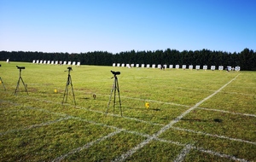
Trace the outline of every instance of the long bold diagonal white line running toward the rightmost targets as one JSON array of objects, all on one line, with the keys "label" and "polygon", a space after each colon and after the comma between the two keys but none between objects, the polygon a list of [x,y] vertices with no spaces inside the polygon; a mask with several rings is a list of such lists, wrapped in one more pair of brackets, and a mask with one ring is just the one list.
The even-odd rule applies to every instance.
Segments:
[{"label": "long bold diagonal white line running toward the rightmost targets", "polygon": [[[236,75],[236,78],[239,76],[240,74]],[[220,90],[223,90],[228,84],[230,84],[231,82],[233,82],[236,78],[233,78],[230,80],[229,83],[224,84],[224,86],[222,86],[220,89],[216,90],[212,95],[207,96],[206,98],[204,98],[202,101],[199,101],[198,103],[195,104],[194,107],[190,107],[187,111],[185,111],[184,113],[182,113],[180,116],[178,116],[176,119],[173,119],[169,124],[166,124],[164,127],[162,127],[158,132],[156,132],[153,136],[150,136],[148,139],[146,139],[145,141],[139,143],[135,148],[131,148],[129,151],[127,151],[126,153],[120,155],[117,159],[114,159],[114,161],[125,161],[125,159],[131,157],[131,155],[133,153],[136,153],[137,150],[139,150],[140,148],[143,148],[145,145],[147,145],[149,142],[151,142],[152,140],[154,140],[154,138],[160,136],[160,134],[164,133],[166,130],[170,129],[172,127],[173,124],[176,124],[178,121],[180,121],[181,119],[183,119],[183,117],[185,115],[187,115],[188,113],[190,113],[192,110],[194,110],[196,107],[199,107],[201,105],[201,103],[203,103],[204,101],[207,101],[208,99],[210,99],[213,95],[218,94],[218,92]]]}]

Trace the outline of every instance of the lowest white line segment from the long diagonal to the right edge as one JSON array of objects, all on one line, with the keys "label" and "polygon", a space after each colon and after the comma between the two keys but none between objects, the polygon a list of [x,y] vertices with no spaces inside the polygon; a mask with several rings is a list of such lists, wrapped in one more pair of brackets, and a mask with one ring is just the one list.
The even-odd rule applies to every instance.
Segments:
[{"label": "lowest white line segment from the long diagonal to the right edge", "polygon": [[182,131],[187,131],[187,132],[191,132],[191,133],[195,133],[195,134],[200,134],[200,135],[204,135],[204,136],[213,136],[213,137],[218,137],[218,138],[227,139],[227,140],[230,140],[230,141],[245,142],[245,143],[249,143],[249,144],[256,145],[256,142],[249,142],[249,141],[241,140],[241,139],[237,139],[237,138],[230,138],[230,137],[228,137],[228,136],[212,135],[212,134],[204,133],[204,132],[201,132],[201,131],[183,129],[183,128],[174,127],[174,126],[172,126],[171,128],[172,128],[173,130],[182,130]]}]

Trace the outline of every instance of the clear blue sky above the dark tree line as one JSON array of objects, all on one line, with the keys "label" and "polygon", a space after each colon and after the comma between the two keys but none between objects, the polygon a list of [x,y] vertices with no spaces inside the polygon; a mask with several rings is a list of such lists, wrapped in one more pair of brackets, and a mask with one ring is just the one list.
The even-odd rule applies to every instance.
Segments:
[{"label": "clear blue sky above the dark tree line", "polygon": [[256,49],[255,0],[0,0],[0,50]]}]

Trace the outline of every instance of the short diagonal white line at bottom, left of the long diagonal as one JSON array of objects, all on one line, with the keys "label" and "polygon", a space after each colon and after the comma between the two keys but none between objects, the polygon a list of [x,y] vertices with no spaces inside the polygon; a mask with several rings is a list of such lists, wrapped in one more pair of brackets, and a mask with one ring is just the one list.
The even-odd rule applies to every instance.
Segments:
[{"label": "short diagonal white line at bottom, left of the long diagonal", "polygon": [[65,158],[67,158],[67,156],[69,156],[69,155],[71,155],[71,154],[73,154],[73,153],[78,153],[78,152],[80,152],[80,151],[82,151],[82,150],[84,150],[84,149],[90,148],[91,146],[93,146],[93,145],[96,144],[96,143],[102,142],[102,141],[106,140],[107,138],[109,138],[109,137],[111,137],[111,136],[115,136],[115,135],[119,134],[121,131],[122,131],[122,130],[116,130],[116,131],[114,131],[114,132],[112,132],[112,133],[109,133],[108,136],[102,136],[101,138],[98,138],[98,139],[96,139],[96,140],[93,141],[93,142],[88,142],[88,143],[86,143],[86,144],[85,144],[84,146],[82,146],[82,147],[74,148],[71,152],[66,153],[66,154],[63,154],[63,155],[61,155],[60,157],[54,159],[53,161],[61,161],[61,160],[65,159]]}]

